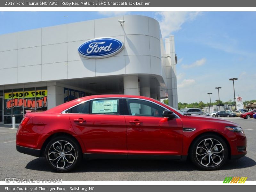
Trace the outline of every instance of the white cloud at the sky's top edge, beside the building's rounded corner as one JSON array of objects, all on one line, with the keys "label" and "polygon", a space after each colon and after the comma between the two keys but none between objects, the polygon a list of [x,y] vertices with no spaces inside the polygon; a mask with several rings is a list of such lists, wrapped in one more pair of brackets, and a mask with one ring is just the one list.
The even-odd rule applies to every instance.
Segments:
[{"label": "white cloud at the sky's top edge, beside the building's rounded corner", "polygon": [[201,12],[157,12],[156,19],[160,20],[162,36],[166,37],[180,30],[184,22],[195,20],[200,14]]}]

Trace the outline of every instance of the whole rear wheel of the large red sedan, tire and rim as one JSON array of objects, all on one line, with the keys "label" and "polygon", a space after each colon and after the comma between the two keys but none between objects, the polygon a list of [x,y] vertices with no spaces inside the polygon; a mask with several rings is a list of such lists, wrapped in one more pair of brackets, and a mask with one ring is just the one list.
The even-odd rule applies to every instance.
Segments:
[{"label": "whole rear wheel of the large red sedan, tire and rim", "polygon": [[[52,147],[53,144],[54,148]],[[61,146],[65,147],[62,148]],[[60,151],[63,152],[63,154],[61,154]],[[65,151],[67,155],[65,155]],[[44,150],[44,157],[52,169],[57,172],[68,172],[74,169],[78,164],[80,164],[82,155],[83,154],[79,143],[72,137],[66,135],[58,136],[50,140]],[[56,161],[60,160],[58,161],[58,164],[56,164],[56,161],[53,161],[55,157],[57,159]],[[50,160],[50,158],[52,159]],[[60,165],[63,165],[63,167]]]}]

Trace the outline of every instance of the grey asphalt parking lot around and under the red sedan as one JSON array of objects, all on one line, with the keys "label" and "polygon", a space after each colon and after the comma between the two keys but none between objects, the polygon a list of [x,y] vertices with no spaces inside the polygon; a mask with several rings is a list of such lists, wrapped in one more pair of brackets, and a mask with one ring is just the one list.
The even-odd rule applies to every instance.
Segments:
[{"label": "grey asphalt parking lot around and under the red sedan", "polygon": [[84,160],[68,173],[52,171],[44,158],[16,151],[16,130],[0,125],[0,180],[224,180],[225,177],[248,177],[256,180],[256,119],[224,118],[238,123],[247,136],[247,155],[228,161],[221,170],[200,171],[191,162],[169,160]]}]

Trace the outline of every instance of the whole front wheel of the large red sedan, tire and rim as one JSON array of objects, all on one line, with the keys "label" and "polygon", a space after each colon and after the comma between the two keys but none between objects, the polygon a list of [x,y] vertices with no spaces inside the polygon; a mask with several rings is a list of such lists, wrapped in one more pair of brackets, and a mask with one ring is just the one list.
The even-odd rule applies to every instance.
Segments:
[{"label": "whole front wheel of the large red sedan, tire and rim", "polygon": [[216,170],[226,163],[228,146],[220,136],[205,134],[192,143],[189,156],[200,169]]}]

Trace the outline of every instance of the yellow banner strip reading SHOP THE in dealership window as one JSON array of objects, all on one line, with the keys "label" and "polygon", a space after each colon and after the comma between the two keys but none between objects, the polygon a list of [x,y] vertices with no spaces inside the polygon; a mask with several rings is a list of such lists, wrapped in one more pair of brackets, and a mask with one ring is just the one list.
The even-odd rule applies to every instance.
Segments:
[{"label": "yellow banner strip reading SHOP THE in dealership window", "polygon": [[4,93],[4,99],[33,98],[47,96],[47,90]]}]

